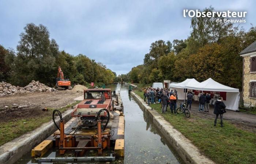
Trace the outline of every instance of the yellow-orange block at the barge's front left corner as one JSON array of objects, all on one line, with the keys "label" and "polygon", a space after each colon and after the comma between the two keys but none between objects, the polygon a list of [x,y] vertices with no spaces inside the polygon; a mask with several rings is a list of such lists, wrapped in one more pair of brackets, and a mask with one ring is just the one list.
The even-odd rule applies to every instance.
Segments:
[{"label": "yellow-orange block at the barge's front left corner", "polygon": [[42,157],[46,152],[52,148],[53,141],[52,140],[44,140],[39,145],[37,145],[31,151],[31,157]]}]

